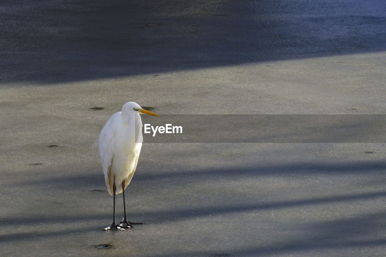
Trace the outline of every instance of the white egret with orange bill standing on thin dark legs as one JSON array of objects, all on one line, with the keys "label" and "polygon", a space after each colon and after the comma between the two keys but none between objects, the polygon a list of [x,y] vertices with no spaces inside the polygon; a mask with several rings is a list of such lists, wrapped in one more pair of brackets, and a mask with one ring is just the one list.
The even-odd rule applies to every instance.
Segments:
[{"label": "white egret with orange bill standing on thin dark legs", "polygon": [[[112,227],[118,230],[132,228],[134,223],[127,220],[125,205],[125,188],[133,178],[137,167],[139,152],[142,147],[142,120],[140,114],[157,114],[144,110],[137,103],[127,102],[122,107],[122,112],[114,113],[102,128],[99,138],[99,155],[107,191],[113,196],[113,223],[105,228]],[[121,188],[117,186],[121,185]],[[123,193],[123,208],[125,216],[120,225],[115,222],[115,194]],[[123,225],[127,227],[123,227]]]}]

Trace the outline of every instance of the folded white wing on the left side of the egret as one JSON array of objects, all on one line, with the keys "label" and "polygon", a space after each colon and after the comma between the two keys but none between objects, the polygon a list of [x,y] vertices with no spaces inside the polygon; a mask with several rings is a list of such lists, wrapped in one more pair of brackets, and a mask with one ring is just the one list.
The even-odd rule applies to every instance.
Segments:
[{"label": "folded white wing on the left side of the egret", "polygon": [[110,176],[111,164],[114,158],[114,134],[116,129],[122,126],[121,113],[114,113],[106,122],[99,134],[98,145],[100,161],[102,163],[103,173],[105,174],[105,183],[107,191],[113,195],[113,178]]}]

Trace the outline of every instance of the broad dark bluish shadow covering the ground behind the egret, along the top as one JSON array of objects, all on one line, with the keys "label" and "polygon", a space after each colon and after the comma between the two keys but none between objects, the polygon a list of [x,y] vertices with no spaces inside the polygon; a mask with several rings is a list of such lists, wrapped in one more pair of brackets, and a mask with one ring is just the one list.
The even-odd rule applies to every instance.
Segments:
[{"label": "broad dark bluish shadow covering the ground behind the egret, along the top", "polygon": [[3,1],[1,83],[60,83],[386,49],[382,2]]}]

